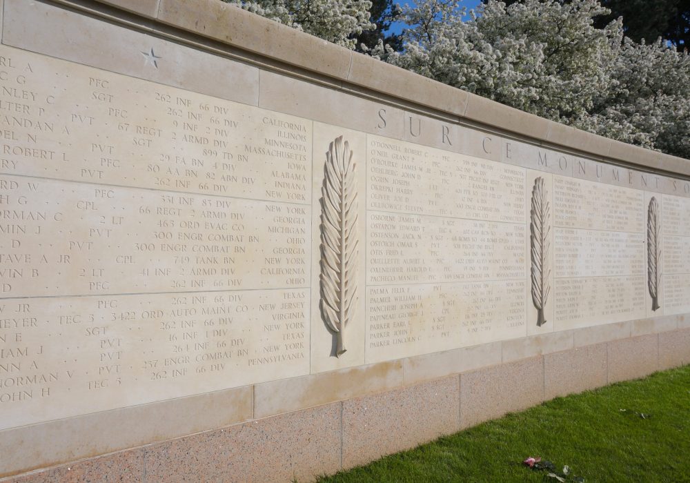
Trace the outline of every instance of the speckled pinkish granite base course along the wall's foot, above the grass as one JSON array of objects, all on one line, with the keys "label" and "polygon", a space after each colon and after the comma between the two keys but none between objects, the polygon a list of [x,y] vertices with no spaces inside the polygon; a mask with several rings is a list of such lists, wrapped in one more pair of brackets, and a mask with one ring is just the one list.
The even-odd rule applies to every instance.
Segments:
[{"label": "speckled pinkish granite base course along the wall's foot, above the grass", "polygon": [[689,363],[690,328],[628,337],[90,457],[0,483],[311,481],[553,397]]}]

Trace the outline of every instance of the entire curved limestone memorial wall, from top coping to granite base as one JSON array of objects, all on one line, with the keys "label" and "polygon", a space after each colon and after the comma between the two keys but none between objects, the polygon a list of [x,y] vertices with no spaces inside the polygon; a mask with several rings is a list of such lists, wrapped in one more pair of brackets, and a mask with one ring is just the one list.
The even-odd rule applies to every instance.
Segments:
[{"label": "entire curved limestone memorial wall, from top coping to granite base", "polygon": [[308,479],[690,361],[687,160],[217,0],[0,6],[0,476]]}]

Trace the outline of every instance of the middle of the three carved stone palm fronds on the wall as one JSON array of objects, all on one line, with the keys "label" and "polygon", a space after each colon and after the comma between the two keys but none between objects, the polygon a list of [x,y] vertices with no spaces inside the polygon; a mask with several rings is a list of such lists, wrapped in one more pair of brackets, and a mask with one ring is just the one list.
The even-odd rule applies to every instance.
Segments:
[{"label": "middle of the three carved stone palm fronds on the wall", "polygon": [[532,188],[532,209],[530,212],[530,244],[531,244],[531,278],[532,278],[532,302],[537,309],[537,325],[546,324],[544,308],[549,299],[549,248],[551,235],[551,207],[546,192],[546,184],[543,177],[534,180]]}]

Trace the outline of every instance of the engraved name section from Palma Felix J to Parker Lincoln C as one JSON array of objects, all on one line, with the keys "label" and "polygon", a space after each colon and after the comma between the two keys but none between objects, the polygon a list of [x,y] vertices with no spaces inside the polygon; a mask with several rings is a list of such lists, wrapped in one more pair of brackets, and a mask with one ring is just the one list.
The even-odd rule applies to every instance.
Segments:
[{"label": "engraved name section from Palma Felix J to Parker Lincoln C", "polygon": [[526,335],[526,282],[369,286],[366,362]]}]

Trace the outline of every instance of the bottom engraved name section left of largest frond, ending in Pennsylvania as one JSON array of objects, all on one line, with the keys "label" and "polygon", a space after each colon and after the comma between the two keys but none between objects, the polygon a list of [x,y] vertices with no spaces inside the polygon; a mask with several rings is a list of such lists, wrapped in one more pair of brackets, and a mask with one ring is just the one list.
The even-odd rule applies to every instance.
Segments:
[{"label": "bottom engraved name section left of largest frond, ending in Pennsylvania", "polygon": [[0,429],[308,373],[306,289],[0,302]]}]

